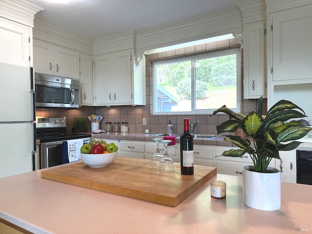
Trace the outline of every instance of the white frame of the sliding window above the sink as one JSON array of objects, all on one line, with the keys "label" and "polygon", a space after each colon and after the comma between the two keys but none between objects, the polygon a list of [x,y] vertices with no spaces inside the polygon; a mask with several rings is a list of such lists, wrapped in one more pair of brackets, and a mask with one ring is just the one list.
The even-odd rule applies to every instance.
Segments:
[{"label": "white frame of the sliding window above the sink", "polygon": [[[211,53],[205,53],[205,54],[200,54],[200,55],[191,55],[191,56],[185,56],[184,58],[176,58],[176,59],[167,59],[167,60],[159,60],[152,62],[152,69],[153,69],[153,103],[152,103],[152,109],[153,109],[153,115],[190,115],[190,114],[212,114],[215,109],[201,109],[201,110],[195,110],[195,98],[194,98],[194,93],[195,93],[195,60],[198,59],[209,59],[209,58],[214,58],[214,57],[219,57],[219,56],[226,56],[226,55],[233,55],[236,54],[236,108],[229,108],[233,110],[234,112],[240,112],[240,103],[241,103],[241,73],[242,73],[242,67],[241,67],[241,62],[242,62],[242,52],[240,51],[239,48],[233,48],[233,49],[228,49],[228,50],[222,50],[222,51],[216,51],[216,52],[211,52]],[[184,112],[159,112],[156,111],[157,107],[157,82],[156,82],[156,69],[155,66],[159,64],[170,64],[174,62],[183,62],[183,61],[188,61],[191,60],[191,92],[192,92],[192,99],[191,99],[191,111],[184,111]],[[221,106],[220,106],[221,107]]]}]

